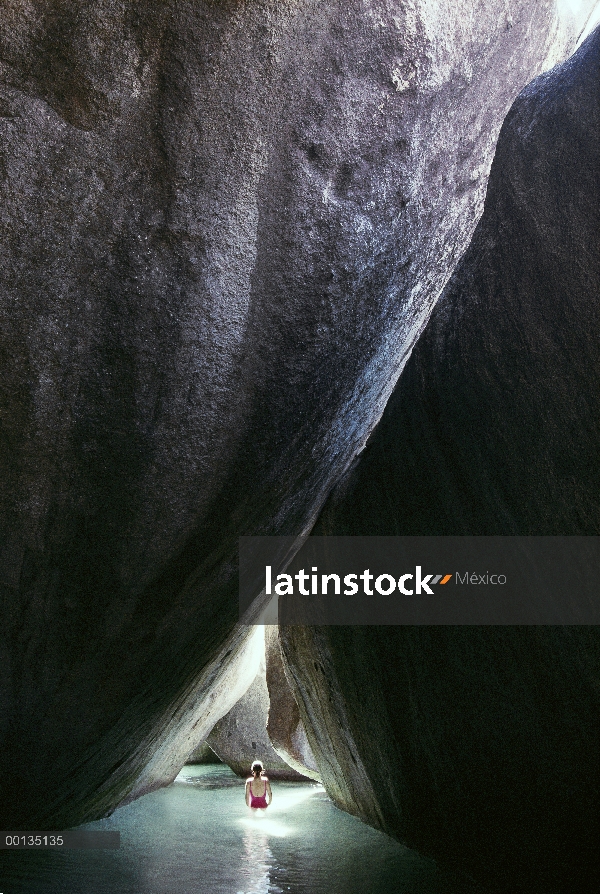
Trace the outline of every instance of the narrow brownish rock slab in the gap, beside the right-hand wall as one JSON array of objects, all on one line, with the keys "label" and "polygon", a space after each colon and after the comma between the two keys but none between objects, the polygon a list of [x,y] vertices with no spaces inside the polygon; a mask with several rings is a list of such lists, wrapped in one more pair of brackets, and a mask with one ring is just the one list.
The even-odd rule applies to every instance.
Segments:
[{"label": "narrow brownish rock slab in the gap, beside the right-hand wall", "polygon": [[276,625],[265,627],[265,660],[269,690],[267,733],[271,745],[290,767],[320,781],[319,768],[285,672]]}]

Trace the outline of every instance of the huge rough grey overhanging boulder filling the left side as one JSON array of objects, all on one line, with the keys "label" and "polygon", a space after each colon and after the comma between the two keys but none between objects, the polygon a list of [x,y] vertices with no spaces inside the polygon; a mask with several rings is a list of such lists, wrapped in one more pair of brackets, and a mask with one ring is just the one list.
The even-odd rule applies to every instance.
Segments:
[{"label": "huge rough grey overhanging boulder filling the left side", "polygon": [[227,709],[238,536],[309,528],[468,244],[512,99],[581,21],[3,5],[5,827],[161,784]]}]

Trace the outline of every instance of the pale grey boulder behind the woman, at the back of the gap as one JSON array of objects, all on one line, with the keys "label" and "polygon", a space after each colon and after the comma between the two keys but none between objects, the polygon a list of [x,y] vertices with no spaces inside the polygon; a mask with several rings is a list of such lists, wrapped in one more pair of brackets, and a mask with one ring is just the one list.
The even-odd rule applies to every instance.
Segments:
[{"label": "pale grey boulder behind the woman, at the back of the gap", "polygon": [[[264,643],[264,628],[260,630]],[[250,688],[229,713],[215,724],[206,741],[215,754],[238,776],[249,776],[252,763],[259,760],[262,761],[267,776],[271,779],[306,779],[302,772],[290,766],[285,758],[275,751],[267,733],[270,699],[265,675],[264,648],[262,659]]]}]

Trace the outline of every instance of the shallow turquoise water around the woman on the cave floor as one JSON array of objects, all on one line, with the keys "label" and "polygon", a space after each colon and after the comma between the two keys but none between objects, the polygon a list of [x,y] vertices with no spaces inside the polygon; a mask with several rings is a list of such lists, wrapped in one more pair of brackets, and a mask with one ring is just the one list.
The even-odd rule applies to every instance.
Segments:
[{"label": "shallow turquoise water around the woman on the cave floor", "polygon": [[1,894],[475,894],[338,810],[318,785],[273,782],[252,815],[228,767],[186,766],[173,785],[89,823],[119,850],[0,851]]}]

